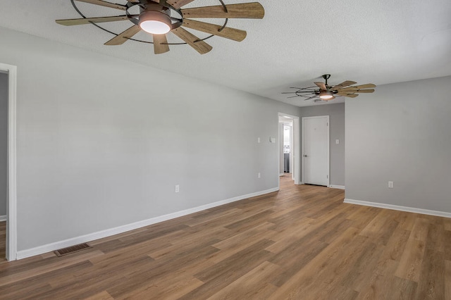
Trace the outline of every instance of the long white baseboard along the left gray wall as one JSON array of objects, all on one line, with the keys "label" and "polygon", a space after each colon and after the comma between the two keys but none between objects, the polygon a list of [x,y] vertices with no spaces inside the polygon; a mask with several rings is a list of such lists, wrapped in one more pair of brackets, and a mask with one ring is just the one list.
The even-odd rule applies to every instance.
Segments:
[{"label": "long white baseboard along the left gray wall", "polygon": [[44,254],[50,251],[54,251],[54,250],[58,250],[61,248],[66,248],[68,246],[73,246],[76,244],[82,244],[82,243],[86,243],[89,241],[93,241],[94,239],[101,239],[103,237],[109,237],[111,235],[118,235],[119,233],[123,233],[123,232],[127,232],[130,230],[135,230],[137,228],[140,227],[144,227],[144,226],[148,226],[148,225],[152,225],[155,223],[160,223],[166,220],[171,220],[173,218],[178,218],[181,217],[183,215],[189,215],[190,213],[197,213],[198,211],[204,211],[206,209],[209,208],[213,208],[216,206],[221,206],[224,204],[229,204],[231,202],[235,202],[235,201],[240,201],[242,199],[247,199],[247,198],[251,198],[254,196],[260,196],[263,194],[268,194],[268,193],[272,193],[272,192],[277,192],[279,190],[278,187],[274,187],[273,189],[266,189],[264,191],[261,192],[255,192],[252,194],[247,194],[247,195],[242,195],[242,196],[236,196],[230,199],[226,199],[226,200],[222,200],[222,201],[217,201],[211,204],[205,204],[202,206],[197,206],[194,208],[188,208],[185,209],[184,211],[178,211],[175,213],[168,213],[167,215],[160,215],[159,217],[155,217],[155,218],[150,218],[147,220],[142,220],[142,221],[138,221],[135,223],[131,223],[131,224],[127,224],[127,225],[122,225],[119,227],[114,227],[114,228],[110,228],[107,230],[101,230],[98,232],[93,232],[93,233],[89,233],[88,235],[82,235],[80,237],[73,237],[70,239],[65,239],[63,241],[58,241],[58,242],[54,242],[51,244],[46,244],[46,245],[42,245],[42,246],[37,246],[35,248],[32,249],[25,249],[25,250],[20,250],[17,252],[17,259],[22,259],[22,258],[27,258],[30,256],[35,256],[35,255],[39,255],[39,254]]}]

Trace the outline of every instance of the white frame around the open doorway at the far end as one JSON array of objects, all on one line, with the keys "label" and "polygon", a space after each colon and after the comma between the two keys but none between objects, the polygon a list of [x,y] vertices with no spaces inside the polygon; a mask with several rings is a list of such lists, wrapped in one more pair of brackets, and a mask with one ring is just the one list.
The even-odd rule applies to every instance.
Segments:
[{"label": "white frame around the open doorway at the far end", "polygon": [[[293,127],[292,127],[292,135],[293,135],[293,180],[295,181],[295,185],[302,185],[301,182],[301,168],[300,168],[300,137],[299,137],[299,130],[300,130],[300,123],[299,123],[299,117],[296,115],[288,115],[287,113],[278,113],[278,117],[288,117],[293,119]],[[279,132],[279,143],[280,143],[280,130],[279,130],[279,118],[277,117],[277,128]],[[280,146],[277,147],[277,161],[278,161],[278,169],[277,169],[277,177],[279,177],[279,171],[280,171]],[[280,189],[280,180],[278,180],[278,189]]]}]

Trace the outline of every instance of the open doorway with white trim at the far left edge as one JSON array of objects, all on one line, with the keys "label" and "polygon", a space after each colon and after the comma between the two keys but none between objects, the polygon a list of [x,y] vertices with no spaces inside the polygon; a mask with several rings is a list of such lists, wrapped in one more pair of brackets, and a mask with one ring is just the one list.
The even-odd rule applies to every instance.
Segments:
[{"label": "open doorway with white trim at the far left edge", "polygon": [[17,67],[0,63],[0,261],[17,259],[16,81]]}]

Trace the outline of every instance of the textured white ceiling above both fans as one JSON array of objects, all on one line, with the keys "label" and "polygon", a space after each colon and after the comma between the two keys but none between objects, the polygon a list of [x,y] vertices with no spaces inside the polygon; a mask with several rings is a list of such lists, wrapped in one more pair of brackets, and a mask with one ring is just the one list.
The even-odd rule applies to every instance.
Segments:
[{"label": "textured white ceiling above both fans", "polygon": [[[79,18],[69,0],[4,2],[0,26],[297,106],[314,103],[280,93],[290,91],[289,87],[309,87],[322,81],[325,73],[332,75],[332,85],[344,80],[383,85],[451,75],[450,0],[260,0],[263,20],[228,22],[229,27],[247,30],[243,42],[212,37],[207,42],[213,50],[204,55],[187,45],[171,46],[161,55],[153,54],[152,44],[129,41],[104,46],[113,37],[108,32],[93,25],[66,27],[54,22]],[[125,4],[125,0],[111,2]],[[76,4],[87,17],[121,14],[113,8]],[[218,4],[218,0],[196,0],[189,6]],[[130,25],[123,21],[105,27],[118,33]],[[340,101],[342,97],[330,103]]]}]

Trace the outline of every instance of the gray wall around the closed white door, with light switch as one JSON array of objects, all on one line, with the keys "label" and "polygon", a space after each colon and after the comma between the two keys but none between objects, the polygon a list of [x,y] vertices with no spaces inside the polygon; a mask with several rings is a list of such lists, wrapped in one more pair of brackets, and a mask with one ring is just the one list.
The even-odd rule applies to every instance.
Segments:
[{"label": "gray wall around the closed white door, with light switch", "polygon": [[[345,185],[345,104],[326,104],[299,108],[301,117],[329,115],[330,121],[330,185]],[[302,127],[302,120],[300,120]],[[335,139],[340,144],[335,144]],[[302,129],[301,129],[302,141]],[[302,170],[302,169],[301,169]],[[346,185],[347,187],[347,185]]]}]

